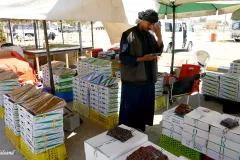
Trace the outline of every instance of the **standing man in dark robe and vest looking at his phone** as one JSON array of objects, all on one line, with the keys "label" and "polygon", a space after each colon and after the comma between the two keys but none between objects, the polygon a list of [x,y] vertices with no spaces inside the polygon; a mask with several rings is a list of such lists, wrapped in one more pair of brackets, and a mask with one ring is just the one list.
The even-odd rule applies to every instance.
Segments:
[{"label": "standing man in dark robe and vest looking at his phone", "polygon": [[140,23],[125,31],[120,43],[122,96],[119,124],[145,132],[146,125],[153,125],[157,61],[163,43],[161,26],[155,25],[158,13],[146,10],[140,12],[138,18]]}]

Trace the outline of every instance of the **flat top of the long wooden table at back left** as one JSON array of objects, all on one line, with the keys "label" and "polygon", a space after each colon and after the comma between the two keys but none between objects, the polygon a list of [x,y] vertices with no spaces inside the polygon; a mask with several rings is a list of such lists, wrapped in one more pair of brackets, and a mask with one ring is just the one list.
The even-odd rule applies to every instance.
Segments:
[{"label": "flat top of the long wooden table at back left", "polygon": [[[92,49],[92,47],[83,47],[83,49]],[[54,48],[50,48],[49,51],[50,51],[50,55],[55,55],[55,54],[64,54],[67,52],[79,51],[79,50],[80,50],[80,46],[72,46],[72,47],[54,47]],[[45,48],[24,50],[23,52],[24,54],[35,55],[37,57],[47,56]]]}]

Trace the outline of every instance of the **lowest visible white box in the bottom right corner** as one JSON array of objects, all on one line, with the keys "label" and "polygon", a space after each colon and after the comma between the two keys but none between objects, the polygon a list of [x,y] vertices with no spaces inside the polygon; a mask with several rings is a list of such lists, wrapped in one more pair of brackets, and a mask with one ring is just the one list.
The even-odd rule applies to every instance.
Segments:
[{"label": "lowest visible white box in the bottom right corner", "polygon": [[226,157],[229,157],[233,160],[239,160],[240,156],[239,156],[239,152],[236,152],[236,151],[233,151],[233,150],[230,150],[230,149],[227,149],[227,148],[224,148],[224,147],[221,147],[215,143],[212,143],[212,142],[208,142],[208,149],[211,149],[217,153],[221,153],[222,155],[226,156]]}]

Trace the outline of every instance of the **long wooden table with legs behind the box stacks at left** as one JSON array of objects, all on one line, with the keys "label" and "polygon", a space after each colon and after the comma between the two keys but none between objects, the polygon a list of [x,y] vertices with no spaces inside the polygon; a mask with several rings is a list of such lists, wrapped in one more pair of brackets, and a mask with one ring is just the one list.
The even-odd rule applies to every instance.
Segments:
[{"label": "long wooden table with legs behind the box stacks at left", "polygon": [[[92,49],[92,47],[83,47],[83,50],[88,50],[88,49]],[[80,46],[50,48],[50,55],[53,56],[54,60],[56,55],[65,54],[67,68],[69,68],[68,54],[73,52],[80,52]],[[39,57],[47,57],[46,49],[41,48],[41,49],[24,50],[23,53],[24,55],[27,55],[27,56],[34,56],[36,60],[38,78],[40,78]],[[77,56],[77,61],[78,61],[78,56]]]}]

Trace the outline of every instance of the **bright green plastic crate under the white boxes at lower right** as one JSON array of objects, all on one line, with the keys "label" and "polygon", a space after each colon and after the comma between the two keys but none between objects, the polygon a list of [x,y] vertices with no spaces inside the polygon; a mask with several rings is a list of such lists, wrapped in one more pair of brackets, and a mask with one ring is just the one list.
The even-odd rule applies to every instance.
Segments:
[{"label": "bright green plastic crate under the white boxes at lower right", "polygon": [[165,136],[165,135],[161,135],[159,146],[162,147],[163,149],[171,152],[172,154],[174,154],[176,156],[184,156],[191,160],[201,160],[202,159],[201,153],[199,153],[191,148],[188,148],[188,147],[182,145],[181,142],[179,142],[175,139],[172,139],[168,136]]}]

